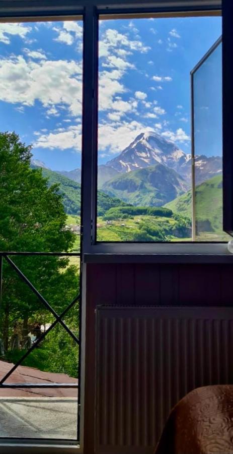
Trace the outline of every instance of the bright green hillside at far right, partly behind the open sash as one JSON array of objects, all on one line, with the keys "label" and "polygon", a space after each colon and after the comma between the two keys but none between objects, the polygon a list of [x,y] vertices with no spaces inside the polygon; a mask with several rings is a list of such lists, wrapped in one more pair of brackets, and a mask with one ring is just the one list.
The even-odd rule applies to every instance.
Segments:
[{"label": "bright green hillside at far right, partly behind the open sash", "polygon": [[[165,205],[174,213],[191,217],[191,191]],[[210,178],[196,187],[196,218],[199,230],[222,232],[222,175]]]}]

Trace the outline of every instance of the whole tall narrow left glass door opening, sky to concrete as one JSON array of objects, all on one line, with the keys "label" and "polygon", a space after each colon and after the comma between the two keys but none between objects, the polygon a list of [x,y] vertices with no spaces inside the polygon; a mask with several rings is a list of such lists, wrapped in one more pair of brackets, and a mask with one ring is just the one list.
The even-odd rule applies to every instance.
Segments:
[{"label": "whole tall narrow left glass door opening, sky to concrete", "polygon": [[79,441],[82,79],[79,17],[0,24],[0,442]]}]

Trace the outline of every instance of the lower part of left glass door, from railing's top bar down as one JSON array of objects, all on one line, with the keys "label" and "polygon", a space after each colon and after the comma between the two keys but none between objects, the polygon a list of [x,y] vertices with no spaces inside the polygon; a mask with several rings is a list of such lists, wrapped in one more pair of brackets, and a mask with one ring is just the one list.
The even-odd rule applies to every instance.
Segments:
[{"label": "lower part of left glass door, from railing's top bar down", "polygon": [[[79,292],[79,268],[68,257],[14,256],[13,261],[58,315]],[[0,379],[41,339],[5,383],[77,384],[79,346],[60,324],[42,337],[55,317],[5,259],[3,265]],[[62,320],[79,337],[79,301]],[[75,388],[0,388],[0,407],[0,437],[76,439]]]}]

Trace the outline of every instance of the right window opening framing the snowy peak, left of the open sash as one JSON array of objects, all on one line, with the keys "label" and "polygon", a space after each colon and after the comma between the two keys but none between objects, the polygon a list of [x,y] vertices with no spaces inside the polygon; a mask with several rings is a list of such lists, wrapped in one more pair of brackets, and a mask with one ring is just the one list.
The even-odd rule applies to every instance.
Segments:
[{"label": "right window opening framing the snowy peak, left of the open sash", "polygon": [[100,22],[97,241],[191,241],[190,71],[220,34],[221,17]]}]

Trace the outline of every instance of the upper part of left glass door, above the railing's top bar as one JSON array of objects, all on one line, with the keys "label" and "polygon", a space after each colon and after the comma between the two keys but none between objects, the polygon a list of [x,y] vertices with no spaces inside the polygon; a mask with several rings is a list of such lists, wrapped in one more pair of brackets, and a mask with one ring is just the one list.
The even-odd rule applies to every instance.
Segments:
[{"label": "upper part of left glass door, above the railing's top bar", "polygon": [[0,250],[80,251],[82,21],[0,24]]}]

